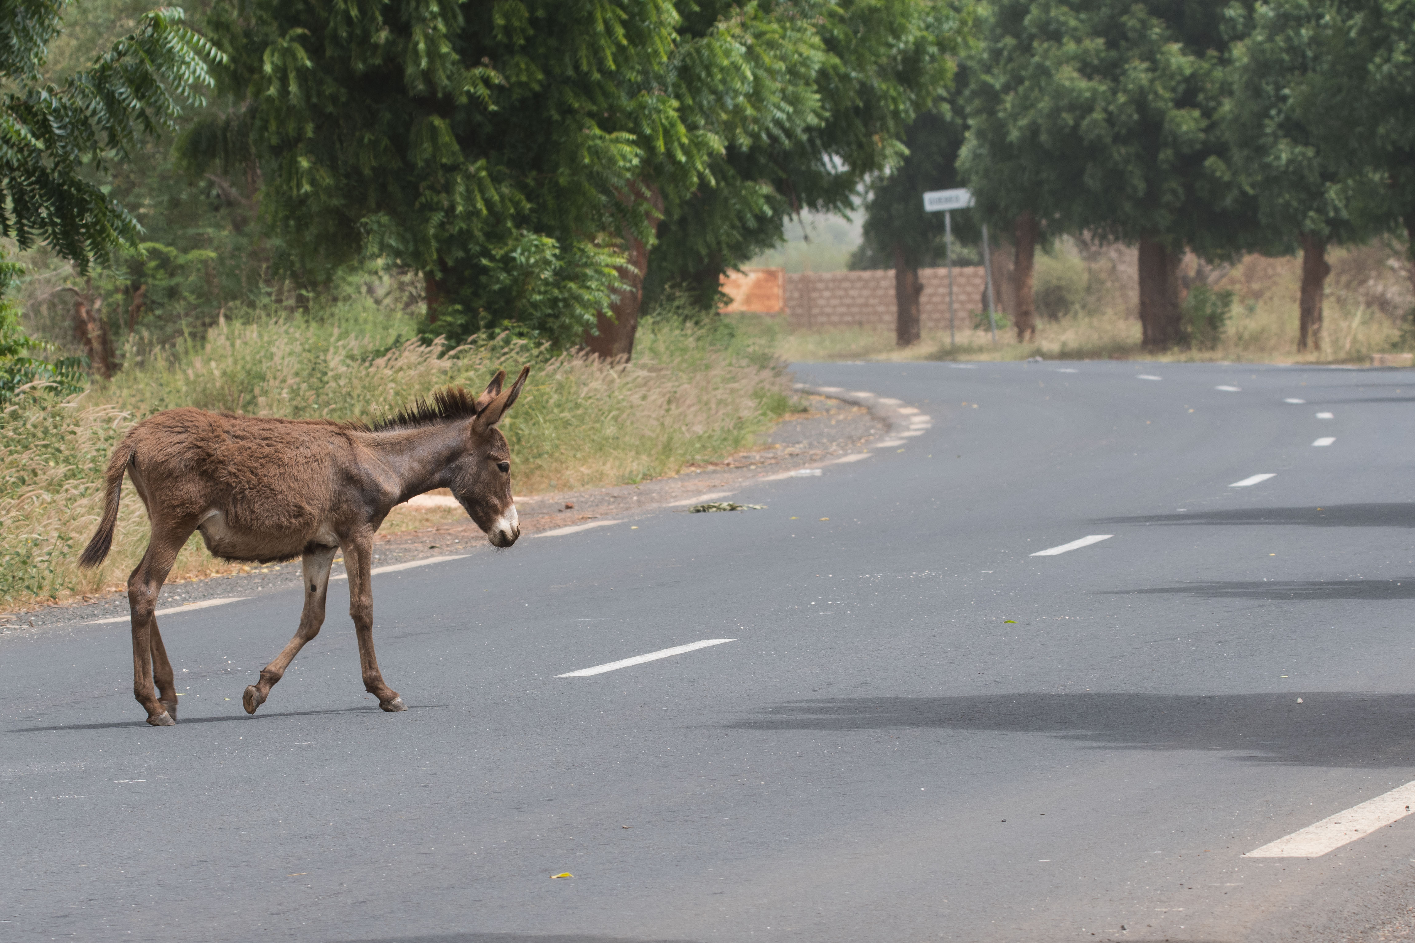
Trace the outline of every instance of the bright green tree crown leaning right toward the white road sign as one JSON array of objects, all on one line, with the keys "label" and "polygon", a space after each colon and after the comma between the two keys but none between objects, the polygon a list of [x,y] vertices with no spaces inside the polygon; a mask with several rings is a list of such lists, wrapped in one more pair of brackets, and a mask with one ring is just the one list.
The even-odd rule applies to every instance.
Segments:
[{"label": "bright green tree crown leaning right toward the white road sign", "polygon": [[[910,123],[949,86],[974,17],[965,0],[751,8],[766,11],[760,28],[775,37],[771,55],[753,62],[760,105],[723,112],[724,151],[699,187],[669,201],[649,262],[651,291],[683,286],[705,307],[723,271],[781,242],[790,216],[852,211],[862,182],[903,158]],[[727,0],[699,4],[683,34],[716,28],[709,23],[736,10]]]}]

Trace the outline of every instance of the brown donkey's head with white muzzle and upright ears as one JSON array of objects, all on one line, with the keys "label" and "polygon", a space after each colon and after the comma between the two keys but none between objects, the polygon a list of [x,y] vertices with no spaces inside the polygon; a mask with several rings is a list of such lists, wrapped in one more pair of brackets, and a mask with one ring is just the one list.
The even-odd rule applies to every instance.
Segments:
[{"label": "brown donkey's head with white muzzle and upright ears", "polygon": [[505,370],[492,377],[487,392],[477,397],[477,416],[467,423],[467,448],[450,469],[451,493],[498,547],[514,544],[521,526],[511,498],[511,450],[497,423],[521,396],[528,373],[531,368],[522,368],[505,393],[501,392]]}]

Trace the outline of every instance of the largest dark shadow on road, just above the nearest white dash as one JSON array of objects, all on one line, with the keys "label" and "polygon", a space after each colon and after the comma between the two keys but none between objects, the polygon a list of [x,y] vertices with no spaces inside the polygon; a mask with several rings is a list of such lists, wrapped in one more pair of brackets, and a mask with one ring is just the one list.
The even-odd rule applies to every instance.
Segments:
[{"label": "largest dark shadow on road, just above the nearest white dash", "polygon": [[[1305,703],[1298,704],[1298,697]],[[1094,749],[1199,749],[1299,766],[1415,766],[1415,694],[1305,691],[841,697],[780,704],[732,724],[750,731],[934,728],[1046,734]]]}]

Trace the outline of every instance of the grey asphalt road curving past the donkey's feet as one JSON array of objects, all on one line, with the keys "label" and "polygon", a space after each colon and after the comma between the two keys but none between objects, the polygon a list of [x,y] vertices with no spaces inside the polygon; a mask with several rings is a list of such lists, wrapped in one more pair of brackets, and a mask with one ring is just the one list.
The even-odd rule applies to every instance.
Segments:
[{"label": "grey asphalt road curving past the donkey's feet", "polygon": [[1409,933],[1415,817],[1244,855],[1415,780],[1415,372],[798,375],[931,424],[764,510],[375,577],[406,714],[347,584],[253,718],[297,591],[163,619],[173,728],[126,625],[0,642],[0,939]]}]

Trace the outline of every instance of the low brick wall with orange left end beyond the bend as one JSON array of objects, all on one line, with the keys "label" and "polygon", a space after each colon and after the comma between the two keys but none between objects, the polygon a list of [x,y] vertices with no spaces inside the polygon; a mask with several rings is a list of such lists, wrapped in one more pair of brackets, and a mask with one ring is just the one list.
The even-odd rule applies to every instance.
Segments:
[{"label": "low brick wall with orange left end beyond the bend", "polygon": [[[724,311],[780,311],[780,269],[749,269],[723,279],[733,303]],[[925,331],[948,327],[948,269],[920,269],[924,294],[920,317]],[[954,308],[958,327],[971,324],[983,310],[982,266],[954,269]],[[770,286],[770,287],[768,287]],[[785,276],[785,314],[792,328],[893,328],[894,271],[805,271]]]}]

